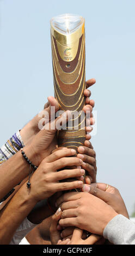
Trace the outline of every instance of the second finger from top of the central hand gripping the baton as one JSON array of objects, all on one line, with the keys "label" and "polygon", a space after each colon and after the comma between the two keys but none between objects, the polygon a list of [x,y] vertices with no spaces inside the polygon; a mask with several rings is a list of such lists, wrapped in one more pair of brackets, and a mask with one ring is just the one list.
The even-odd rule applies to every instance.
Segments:
[{"label": "second finger from top of the central hand gripping the baton", "polygon": [[62,169],[65,166],[82,166],[83,161],[78,157],[62,157],[53,163],[52,170],[54,171],[56,169]]}]

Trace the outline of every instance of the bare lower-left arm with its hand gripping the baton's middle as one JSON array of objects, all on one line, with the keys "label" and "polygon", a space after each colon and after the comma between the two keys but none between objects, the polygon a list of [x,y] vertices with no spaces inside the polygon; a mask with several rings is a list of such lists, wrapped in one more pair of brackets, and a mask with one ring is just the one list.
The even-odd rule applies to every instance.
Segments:
[{"label": "bare lower-left arm with its hand gripping the baton's middle", "polygon": [[[84,174],[84,170],[82,169],[62,170],[57,172],[57,169],[61,169],[65,166],[81,166],[82,160],[79,160],[77,157],[67,157],[73,156],[74,154],[75,150],[65,149],[59,150],[57,153],[46,157],[33,174],[30,180],[30,189],[26,187],[25,183],[15,196],[11,198],[10,202],[5,205],[5,208],[3,208],[0,213],[1,244],[10,242],[15,230],[37,202],[52,196],[53,193],[58,191],[82,187],[82,181],[58,182],[59,180]],[[29,221],[38,224],[47,217],[47,215],[48,212],[44,212],[44,216],[35,216],[34,214],[31,215]]]}]

